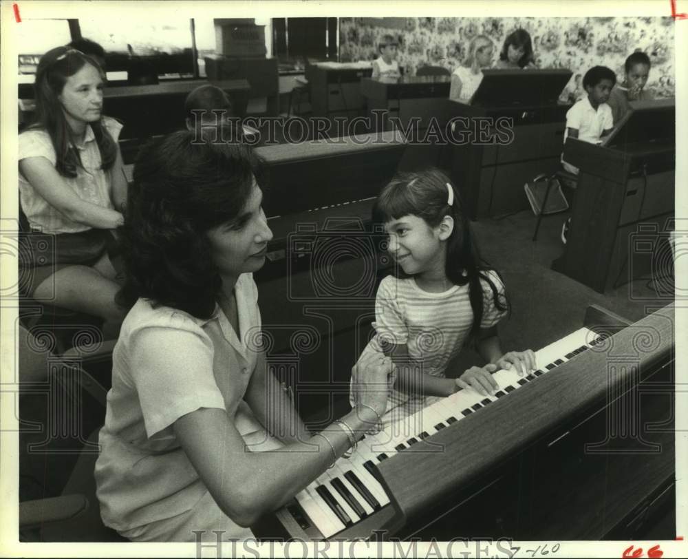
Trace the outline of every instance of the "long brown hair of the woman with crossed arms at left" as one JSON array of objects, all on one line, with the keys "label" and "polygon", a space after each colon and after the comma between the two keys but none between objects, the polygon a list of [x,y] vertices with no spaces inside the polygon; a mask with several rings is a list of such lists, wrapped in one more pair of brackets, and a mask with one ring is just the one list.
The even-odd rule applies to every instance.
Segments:
[{"label": "long brown hair of the woman with crossed arms at left", "polygon": [[[55,167],[65,177],[76,177],[76,168],[82,165],[58,96],[62,93],[67,78],[86,64],[94,66],[103,74],[100,65],[90,56],[69,47],[57,47],[43,54],[36,70],[36,115],[30,129],[43,129],[50,136],[57,157]],[[89,124],[100,150],[101,167],[107,171],[114,165],[117,145],[103,125],[102,118]]]}]

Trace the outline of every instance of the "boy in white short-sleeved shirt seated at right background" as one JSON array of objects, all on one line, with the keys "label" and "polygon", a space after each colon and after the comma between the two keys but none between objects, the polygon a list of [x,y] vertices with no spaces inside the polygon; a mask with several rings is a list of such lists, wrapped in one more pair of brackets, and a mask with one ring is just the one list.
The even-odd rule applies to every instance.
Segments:
[{"label": "boy in white short-sleeved shirt seated at right background", "polygon": [[[612,131],[612,109],[607,100],[616,83],[616,75],[606,66],[594,66],[583,76],[583,89],[588,93],[581,101],[573,105],[566,113],[566,138],[578,138],[583,142],[599,144],[602,136]],[[563,160],[563,168],[570,173],[578,174],[578,167]]]}]

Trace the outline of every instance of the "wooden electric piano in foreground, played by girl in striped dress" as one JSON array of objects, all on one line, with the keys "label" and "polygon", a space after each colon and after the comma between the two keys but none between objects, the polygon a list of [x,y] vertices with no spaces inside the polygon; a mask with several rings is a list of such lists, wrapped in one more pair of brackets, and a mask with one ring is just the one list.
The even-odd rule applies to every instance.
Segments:
[{"label": "wooden electric piano in foreground, played by girl in striped dress", "polygon": [[318,526],[344,540],[641,538],[643,523],[651,526],[675,496],[674,325],[673,304],[635,324],[592,306],[584,345],[573,333],[547,346],[551,362],[514,379],[512,390],[502,380],[498,399],[462,393],[430,404],[338,461],[345,472],[368,461],[376,479],[365,485],[388,505],[334,534],[310,507],[281,509],[281,526],[254,532],[303,540],[321,539]]}]

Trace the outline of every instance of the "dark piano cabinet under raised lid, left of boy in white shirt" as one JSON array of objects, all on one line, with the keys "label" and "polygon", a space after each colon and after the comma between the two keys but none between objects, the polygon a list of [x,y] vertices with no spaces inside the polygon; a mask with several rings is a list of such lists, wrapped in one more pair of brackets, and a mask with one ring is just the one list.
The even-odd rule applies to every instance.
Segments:
[{"label": "dark piano cabinet under raised lid, left of boy in white shirt", "polygon": [[[451,146],[451,179],[472,219],[528,209],[524,184],[561,167],[566,111],[570,105],[475,107],[448,100],[448,118],[458,118]],[[495,123],[513,129],[506,144],[495,142]],[[481,127],[489,139],[478,140]],[[506,126],[502,126],[504,129]],[[462,140],[465,138],[465,140]]]}]

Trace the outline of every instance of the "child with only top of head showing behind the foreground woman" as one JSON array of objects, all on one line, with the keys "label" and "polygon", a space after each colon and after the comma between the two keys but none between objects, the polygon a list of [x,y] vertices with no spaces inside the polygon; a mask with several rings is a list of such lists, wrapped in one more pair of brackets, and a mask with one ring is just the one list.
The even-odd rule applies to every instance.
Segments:
[{"label": "child with only top of head showing behind the foreground woman", "polygon": [[195,131],[197,138],[223,143],[244,140],[251,145],[260,138],[257,129],[241,125],[229,96],[210,83],[196,87],[186,96],[184,113],[186,129]]}]

